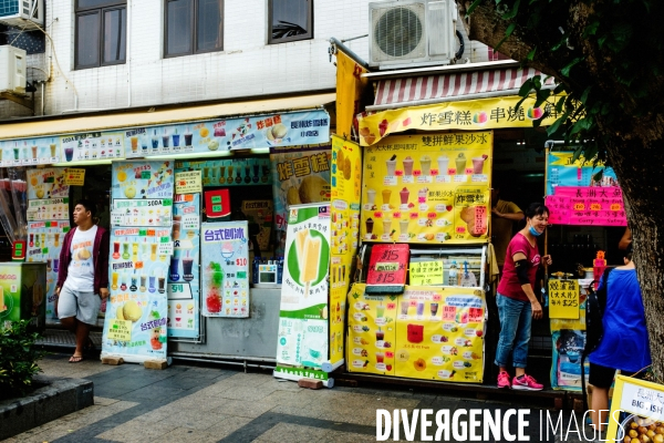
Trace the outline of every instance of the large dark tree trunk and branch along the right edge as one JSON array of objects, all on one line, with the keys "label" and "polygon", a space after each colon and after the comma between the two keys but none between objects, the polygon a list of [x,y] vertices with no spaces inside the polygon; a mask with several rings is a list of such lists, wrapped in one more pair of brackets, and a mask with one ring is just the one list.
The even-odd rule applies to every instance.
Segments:
[{"label": "large dark tree trunk and branch along the right edge", "polygon": [[[471,3],[471,0],[458,2],[461,17],[466,16]],[[500,45],[501,53],[515,60],[526,60],[531,49],[537,48],[533,60],[526,63],[528,66],[564,81],[568,90],[574,91],[578,96],[592,86],[593,93],[601,94],[604,102],[611,103],[609,114],[596,120],[600,134],[606,135],[600,142],[600,148],[606,150],[609,164],[614,168],[629,203],[627,220],[645,308],[653,371],[658,382],[664,383],[664,231],[661,233],[663,228],[660,228],[660,223],[664,222],[664,79],[656,70],[649,69],[647,63],[649,58],[661,63],[664,56],[664,51],[649,47],[650,41],[662,33],[658,20],[663,17],[664,2],[650,2],[649,14],[630,10],[632,2],[618,2],[611,7],[616,21],[634,17],[631,22],[637,32],[633,38],[646,55],[641,63],[640,54],[631,59],[636,61],[634,70],[646,87],[641,97],[633,96],[633,90],[616,75],[615,63],[625,60],[614,60],[611,53],[583,38],[592,8],[599,2],[550,2],[547,19],[538,24],[537,31],[527,29],[528,17],[517,16],[510,21],[501,19],[500,14],[505,11],[497,8],[506,8],[505,3],[496,6],[496,1],[487,0],[477,7],[466,23],[471,40],[495,48],[513,21],[517,28]],[[567,48],[548,51],[552,42],[560,39],[561,29],[570,35]],[[579,55],[584,58],[583,69],[573,71],[571,79],[561,79],[562,68]]]}]

